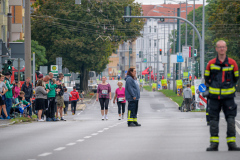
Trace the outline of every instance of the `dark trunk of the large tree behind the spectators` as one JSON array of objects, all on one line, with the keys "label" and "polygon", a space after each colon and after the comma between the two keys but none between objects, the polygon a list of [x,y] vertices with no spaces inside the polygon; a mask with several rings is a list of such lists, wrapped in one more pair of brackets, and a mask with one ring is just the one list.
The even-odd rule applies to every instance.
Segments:
[{"label": "dark trunk of the large tree behind the spectators", "polygon": [[84,65],[80,68],[80,89],[87,92],[88,91],[88,70]]}]

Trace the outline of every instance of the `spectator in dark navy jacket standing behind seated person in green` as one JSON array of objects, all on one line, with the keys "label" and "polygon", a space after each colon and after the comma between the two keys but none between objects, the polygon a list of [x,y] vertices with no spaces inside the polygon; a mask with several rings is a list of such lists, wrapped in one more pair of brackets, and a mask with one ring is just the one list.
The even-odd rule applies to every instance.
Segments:
[{"label": "spectator in dark navy jacket standing behind seated person in green", "polygon": [[[33,96],[33,87],[30,83],[30,77],[26,78],[26,82],[22,85],[21,91],[25,93],[25,100],[29,103],[32,103],[32,96]],[[32,107],[28,107],[29,116],[32,117]]]}]

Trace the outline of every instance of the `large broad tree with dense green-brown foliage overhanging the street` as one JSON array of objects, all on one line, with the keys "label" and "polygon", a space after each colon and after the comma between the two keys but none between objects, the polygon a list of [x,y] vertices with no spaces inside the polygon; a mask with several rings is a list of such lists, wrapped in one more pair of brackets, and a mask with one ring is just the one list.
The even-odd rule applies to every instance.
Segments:
[{"label": "large broad tree with dense green-brown foliage overhanging the street", "polygon": [[103,71],[119,43],[141,35],[143,20],[125,23],[122,18],[128,5],[132,15],[140,15],[140,4],[133,2],[90,0],[75,5],[74,0],[37,0],[32,38],[46,47],[49,65],[61,56],[70,71],[80,71],[80,88],[87,90],[88,72]]}]

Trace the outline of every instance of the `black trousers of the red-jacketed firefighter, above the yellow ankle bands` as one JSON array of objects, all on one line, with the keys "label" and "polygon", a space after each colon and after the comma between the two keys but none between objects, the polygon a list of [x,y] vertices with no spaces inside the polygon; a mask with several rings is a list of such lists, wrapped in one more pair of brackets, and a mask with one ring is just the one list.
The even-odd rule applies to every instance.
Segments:
[{"label": "black trousers of the red-jacketed firefighter, above the yellow ankle bands", "polygon": [[237,115],[237,105],[234,98],[231,99],[209,99],[209,118],[211,137],[219,137],[219,113],[221,109],[224,112],[227,121],[227,138],[235,137],[235,117]]}]

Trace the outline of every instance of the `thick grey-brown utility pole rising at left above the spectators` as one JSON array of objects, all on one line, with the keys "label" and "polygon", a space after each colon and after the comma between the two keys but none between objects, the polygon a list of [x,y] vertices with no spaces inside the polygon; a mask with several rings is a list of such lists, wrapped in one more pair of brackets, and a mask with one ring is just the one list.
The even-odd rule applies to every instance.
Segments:
[{"label": "thick grey-brown utility pole rising at left above the spectators", "polygon": [[30,0],[25,0],[25,79],[31,79],[31,21]]}]

